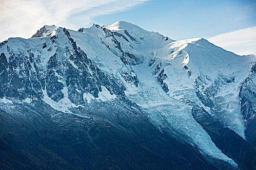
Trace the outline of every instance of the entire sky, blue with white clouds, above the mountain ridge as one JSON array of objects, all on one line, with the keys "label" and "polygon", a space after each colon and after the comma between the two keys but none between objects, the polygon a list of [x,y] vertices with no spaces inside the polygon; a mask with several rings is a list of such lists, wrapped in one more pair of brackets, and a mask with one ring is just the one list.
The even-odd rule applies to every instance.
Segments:
[{"label": "entire sky, blue with white clouds, above the mountain ridge", "polygon": [[256,0],[0,0],[0,8],[0,41],[29,38],[44,25],[78,30],[125,20],[175,40],[204,37],[256,53]]}]

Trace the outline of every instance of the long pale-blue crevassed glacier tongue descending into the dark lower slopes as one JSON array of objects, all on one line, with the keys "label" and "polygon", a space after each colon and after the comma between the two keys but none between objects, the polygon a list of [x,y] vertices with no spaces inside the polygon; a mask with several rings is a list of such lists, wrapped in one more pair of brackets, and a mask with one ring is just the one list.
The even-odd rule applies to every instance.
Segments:
[{"label": "long pale-blue crevassed glacier tongue descending into the dark lower slopes", "polygon": [[134,66],[139,86],[127,89],[125,94],[128,98],[142,107],[160,131],[176,131],[176,133],[186,134],[188,140],[195,144],[202,153],[237,167],[234,160],[223,154],[205,130],[193,119],[191,107],[167,95],[152,76],[152,71],[147,65],[148,61],[144,62],[139,66]]}]

